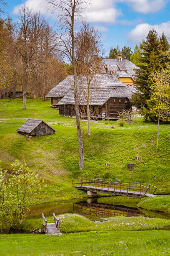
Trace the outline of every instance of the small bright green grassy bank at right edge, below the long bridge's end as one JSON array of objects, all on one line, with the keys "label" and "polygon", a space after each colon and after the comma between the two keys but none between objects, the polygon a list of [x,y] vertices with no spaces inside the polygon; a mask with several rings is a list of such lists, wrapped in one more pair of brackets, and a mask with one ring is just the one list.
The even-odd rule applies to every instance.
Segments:
[{"label": "small bright green grassy bank at right edge, below the long bridge's end", "polygon": [[170,195],[163,195],[158,197],[143,198],[138,203],[138,207],[147,210],[167,212],[170,214]]}]

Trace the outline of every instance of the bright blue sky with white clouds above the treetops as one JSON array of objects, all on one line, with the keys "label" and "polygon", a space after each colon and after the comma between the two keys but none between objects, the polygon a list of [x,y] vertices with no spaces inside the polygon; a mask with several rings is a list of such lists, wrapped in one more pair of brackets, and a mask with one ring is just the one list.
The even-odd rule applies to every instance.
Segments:
[{"label": "bright blue sky with white clouds above the treetops", "polygon": [[[45,0],[8,0],[6,12],[15,18],[24,3],[49,19]],[[134,49],[153,26],[170,37],[170,0],[91,0],[83,15],[102,33],[106,54],[117,44]]]}]

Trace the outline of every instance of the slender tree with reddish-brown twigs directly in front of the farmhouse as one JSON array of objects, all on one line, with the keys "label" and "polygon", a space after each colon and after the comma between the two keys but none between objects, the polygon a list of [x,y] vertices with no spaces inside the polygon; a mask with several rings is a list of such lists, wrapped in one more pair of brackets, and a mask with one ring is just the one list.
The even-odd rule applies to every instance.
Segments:
[{"label": "slender tree with reddish-brown twigs directly in front of the farmhouse", "polygon": [[[82,90],[87,100],[88,135],[90,133],[90,84],[96,73],[102,71],[102,42],[97,29],[83,22],[80,32],[76,36],[76,49],[78,56],[78,73],[87,80],[87,90],[83,84]],[[94,90],[94,88],[93,88]]]}]

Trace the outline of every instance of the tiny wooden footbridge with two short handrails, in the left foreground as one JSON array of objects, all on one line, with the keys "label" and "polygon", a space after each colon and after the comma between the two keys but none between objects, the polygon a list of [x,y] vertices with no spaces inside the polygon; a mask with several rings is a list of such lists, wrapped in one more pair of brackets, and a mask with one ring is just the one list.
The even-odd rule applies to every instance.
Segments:
[{"label": "tiny wooden footbridge with two short handrails, in the left foreground", "polygon": [[60,220],[55,216],[53,213],[54,217],[54,223],[47,223],[47,220],[42,213],[42,221],[43,221],[43,226],[44,226],[44,232],[48,235],[61,235],[60,232]]}]

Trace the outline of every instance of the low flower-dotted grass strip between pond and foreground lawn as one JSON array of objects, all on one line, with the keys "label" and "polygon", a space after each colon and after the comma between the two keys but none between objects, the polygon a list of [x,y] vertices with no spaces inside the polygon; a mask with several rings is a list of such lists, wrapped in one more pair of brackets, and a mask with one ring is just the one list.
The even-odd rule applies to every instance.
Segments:
[{"label": "low flower-dotted grass strip between pond and foreground lawn", "polygon": [[[58,215],[62,233],[75,233],[86,231],[130,231],[130,230],[152,230],[170,226],[169,219],[145,218],[145,217],[112,217],[105,218],[102,223],[95,223],[78,214]],[[53,217],[47,218],[48,223],[53,223]],[[32,232],[35,228],[42,229],[42,218],[25,220],[20,227],[24,231]]]}]

